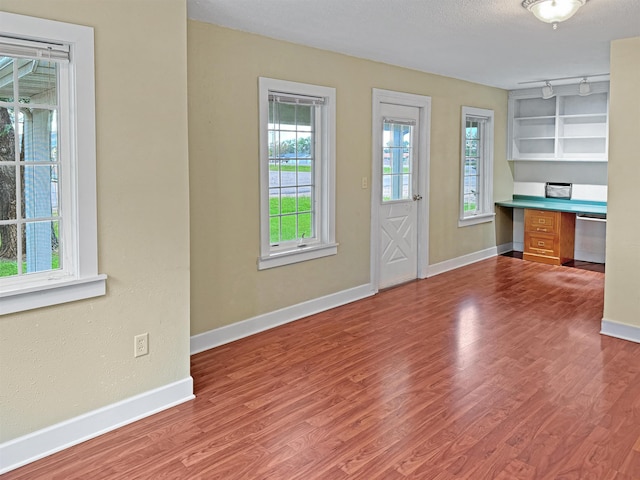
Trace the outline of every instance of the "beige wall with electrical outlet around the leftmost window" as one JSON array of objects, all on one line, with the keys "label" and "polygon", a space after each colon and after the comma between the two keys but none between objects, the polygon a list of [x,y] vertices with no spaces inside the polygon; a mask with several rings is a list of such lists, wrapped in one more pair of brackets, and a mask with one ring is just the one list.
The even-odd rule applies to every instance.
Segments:
[{"label": "beige wall with electrical outlet around the leftmost window", "polygon": [[[150,12],[149,8],[153,8]],[[107,295],[0,317],[0,442],[189,376],[185,0],[0,0],[95,28]],[[134,359],[133,337],[150,354]]]}]

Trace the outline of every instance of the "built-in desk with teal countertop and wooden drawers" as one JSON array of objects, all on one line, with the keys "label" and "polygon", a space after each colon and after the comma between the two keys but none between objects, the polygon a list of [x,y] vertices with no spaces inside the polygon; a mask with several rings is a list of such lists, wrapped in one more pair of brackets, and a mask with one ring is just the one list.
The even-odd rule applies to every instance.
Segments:
[{"label": "built-in desk with teal countertop and wooden drawers", "polygon": [[[576,217],[579,220],[603,222],[607,213],[606,202],[514,195],[511,200],[496,202],[496,205],[524,210],[524,236],[520,237],[520,245],[526,260],[561,265],[577,258],[574,253],[578,253],[578,256],[589,257],[579,258],[580,260],[604,262],[604,225],[598,227],[599,231],[585,228],[582,224],[589,222],[576,225]],[[514,245],[516,230],[518,234],[522,234],[522,227],[519,225],[514,220]],[[576,235],[577,243],[574,238]],[[593,258],[600,257],[588,251],[593,247],[599,247],[595,250],[602,250],[602,258]]]}]

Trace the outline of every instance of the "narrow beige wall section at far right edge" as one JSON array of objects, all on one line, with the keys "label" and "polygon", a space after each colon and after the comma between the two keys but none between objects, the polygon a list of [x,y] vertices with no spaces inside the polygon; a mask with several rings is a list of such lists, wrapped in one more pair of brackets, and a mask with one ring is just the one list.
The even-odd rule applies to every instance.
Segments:
[{"label": "narrow beige wall section at far right edge", "polygon": [[640,37],[611,44],[605,320],[640,327]]}]

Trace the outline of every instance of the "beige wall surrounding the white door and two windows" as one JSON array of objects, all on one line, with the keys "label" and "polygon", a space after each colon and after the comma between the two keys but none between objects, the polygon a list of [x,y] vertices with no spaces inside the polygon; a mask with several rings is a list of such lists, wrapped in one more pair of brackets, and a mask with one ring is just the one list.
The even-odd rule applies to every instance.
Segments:
[{"label": "beige wall surrounding the white door and two windows", "polygon": [[[258,271],[258,77],[337,89],[337,256]],[[495,110],[495,198],[509,198],[507,92],[205,23],[188,23],[191,334],[369,282],[371,89],[432,97],[430,264],[511,241],[458,228],[461,106]],[[498,233],[496,233],[498,230]]]}]

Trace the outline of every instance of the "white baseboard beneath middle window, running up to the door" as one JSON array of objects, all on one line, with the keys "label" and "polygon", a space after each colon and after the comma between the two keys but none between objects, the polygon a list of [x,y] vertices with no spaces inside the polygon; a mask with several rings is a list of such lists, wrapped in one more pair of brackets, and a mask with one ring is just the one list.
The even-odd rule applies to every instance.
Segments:
[{"label": "white baseboard beneath middle window, running up to the door", "polygon": [[191,355],[264,332],[309,315],[370,297],[375,293],[371,284],[365,284],[193,335],[191,337]]}]

